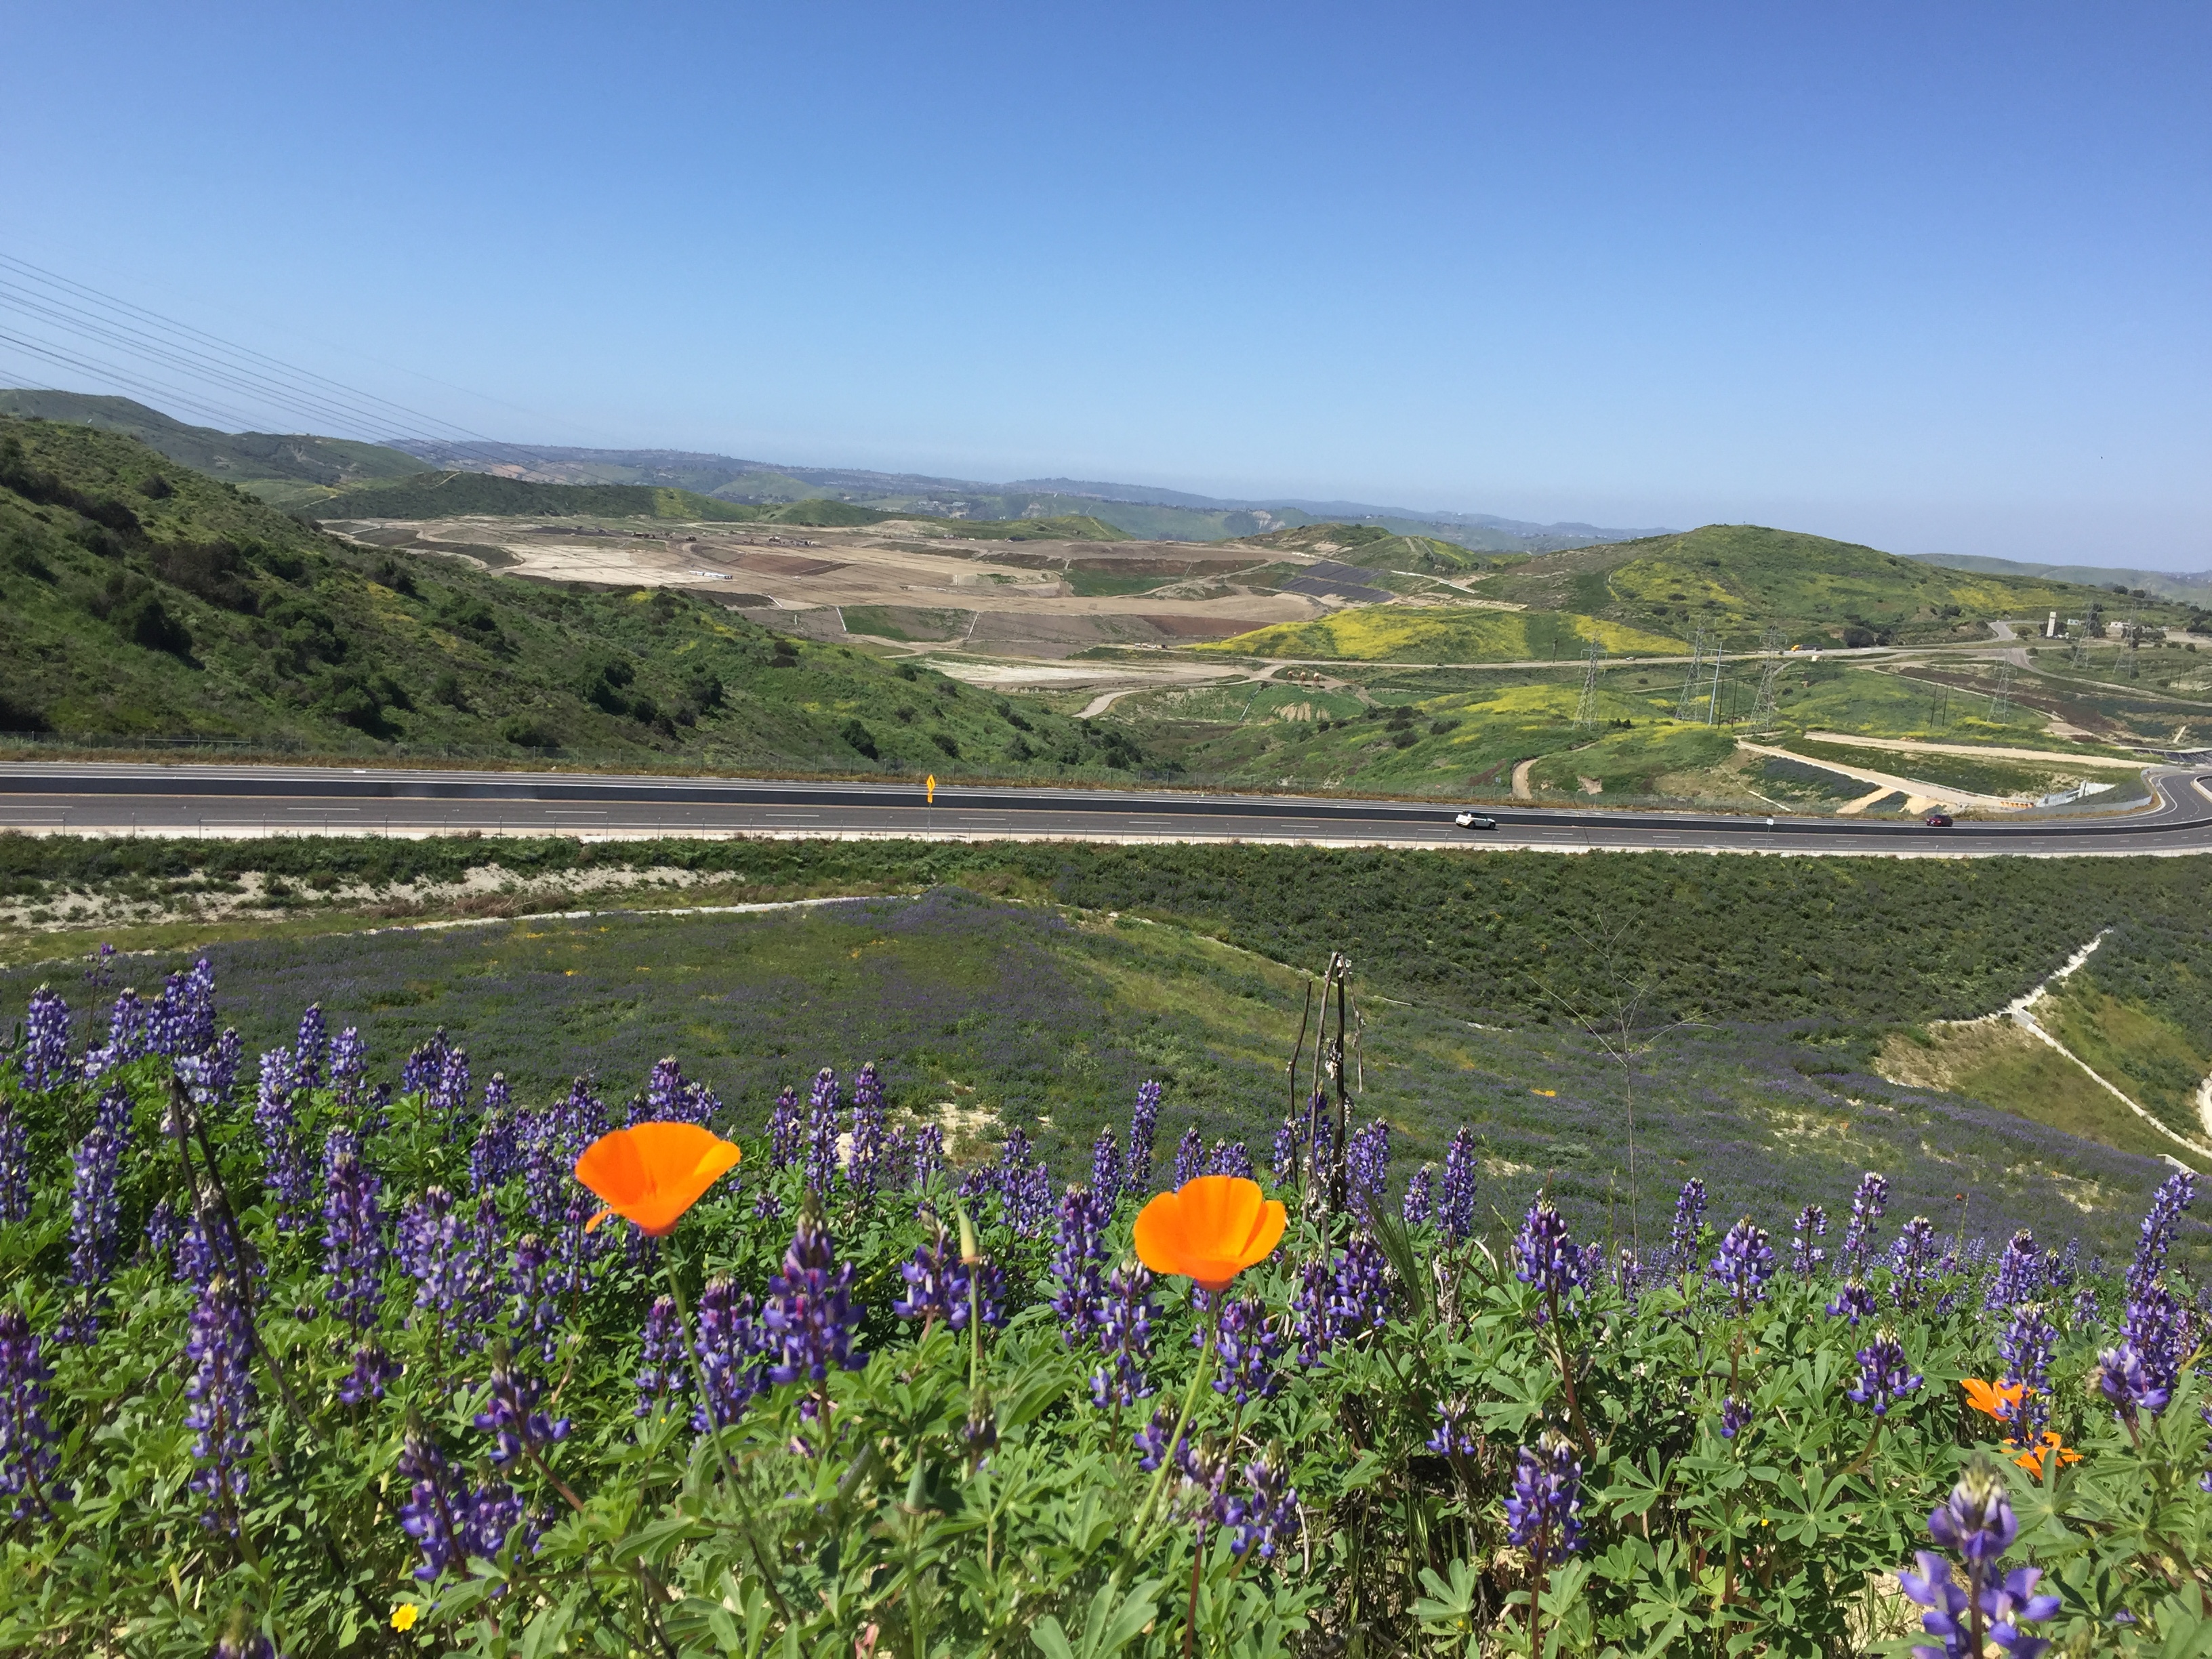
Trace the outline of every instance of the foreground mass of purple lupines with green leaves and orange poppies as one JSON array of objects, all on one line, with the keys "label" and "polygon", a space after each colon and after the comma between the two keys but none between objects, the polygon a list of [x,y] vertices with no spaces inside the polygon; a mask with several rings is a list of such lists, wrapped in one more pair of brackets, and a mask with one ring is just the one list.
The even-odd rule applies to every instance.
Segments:
[{"label": "foreground mass of purple lupines with green leaves and orange poppies", "polygon": [[206,967],[82,1031],[0,1084],[7,1650],[2212,1652],[2188,1175],[2117,1272],[1880,1175],[1639,1256],[1473,1137],[1387,1197],[1340,1088],[1068,1183],[872,1066],[518,1099]]}]

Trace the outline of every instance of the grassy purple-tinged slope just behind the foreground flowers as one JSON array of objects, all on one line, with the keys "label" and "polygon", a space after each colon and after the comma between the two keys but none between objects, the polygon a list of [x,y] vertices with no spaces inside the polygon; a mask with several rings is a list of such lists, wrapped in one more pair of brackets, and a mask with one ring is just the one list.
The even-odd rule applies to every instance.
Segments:
[{"label": "grassy purple-tinged slope just behind the foreground flowers", "polygon": [[[1345,940],[1354,942],[1354,940]],[[1055,914],[958,889],[805,914],[515,920],[217,945],[221,1018],[248,1048],[283,1042],[303,984],[334,1029],[361,1026],[385,1064],[434,1029],[504,1071],[518,1099],[591,1073],[622,1099],[666,1053],[741,1124],[821,1064],[876,1060],[891,1104],[971,1150],[1024,1128],[1073,1172],[1091,1137],[1121,1130],[1135,1084],[1168,1086],[1161,1152],[1183,1126],[1267,1144],[1303,969],[1172,918]],[[184,953],[133,960],[142,982]],[[33,973],[0,975],[15,1004]],[[1394,1128],[1402,1177],[1478,1135],[1486,1206],[1515,1214],[1540,1186],[1577,1217],[1626,1225],[1628,1194],[1661,1214],[1683,1170],[1719,1210],[1785,1214],[1832,1201],[1863,1168],[1896,1183],[1900,1214],[1971,1192],[1971,1225],[2035,1225],[2117,1243],[2159,1179],[2150,1159],[2066,1141],[2000,1113],[1900,1091],[1787,1029],[1714,1022],[1655,1037],[1639,1062],[1630,1181],[1621,1075],[1562,1026],[1478,1031],[1442,984],[1363,975],[1360,1113]],[[82,995],[73,995],[82,1000]],[[2115,1194],[2079,1214],[2039,1170],[2062,1164]],[[1955,1206],[1951,1206],[1955,1208]]]}]

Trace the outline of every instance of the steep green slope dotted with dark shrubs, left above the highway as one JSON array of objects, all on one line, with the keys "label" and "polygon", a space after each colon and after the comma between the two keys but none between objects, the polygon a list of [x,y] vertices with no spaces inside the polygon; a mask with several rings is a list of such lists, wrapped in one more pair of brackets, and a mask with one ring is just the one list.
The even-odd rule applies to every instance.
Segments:
[{"label": "steep green slope dotted with dark shrubs, left above the highway", "polygon": [[794,641],[672,588],[378,553],[137,438],[0,418],[0,730],[314,752],[1106,774],[1119,730]]}]

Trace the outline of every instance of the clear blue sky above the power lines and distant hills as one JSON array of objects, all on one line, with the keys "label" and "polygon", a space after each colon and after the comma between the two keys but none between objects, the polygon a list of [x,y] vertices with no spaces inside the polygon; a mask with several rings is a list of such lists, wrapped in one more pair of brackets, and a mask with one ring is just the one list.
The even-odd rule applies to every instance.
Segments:
[{"label": "clear blue sky above the power lines and distant hills", "polygon": [[0,250],[500,438],[2212,566],[2199,0],[0,15]]}]

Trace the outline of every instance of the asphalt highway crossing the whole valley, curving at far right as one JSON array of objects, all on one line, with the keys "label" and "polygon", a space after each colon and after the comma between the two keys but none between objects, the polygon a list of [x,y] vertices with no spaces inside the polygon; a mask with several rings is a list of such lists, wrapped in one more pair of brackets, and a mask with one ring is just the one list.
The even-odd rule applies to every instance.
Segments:
[{"label": "asphalt highway crossing the whole valley, curving at far right", "polygon": [[564,834],[927,836],[945,841],[1279,841],[1553,852],[1765,852],[1878,856],[2139,856],[2212,852],[2212,772],[2152,772],[2132,814],[2028,821],[1756,818],[1694,812],[1478,807],[1498,830],[1458,830],[1453,803],[1338,796],[790,783],[593,772],[445,772],[307,765],[0,765],[0,830],[29,834]]}]

